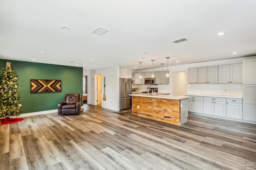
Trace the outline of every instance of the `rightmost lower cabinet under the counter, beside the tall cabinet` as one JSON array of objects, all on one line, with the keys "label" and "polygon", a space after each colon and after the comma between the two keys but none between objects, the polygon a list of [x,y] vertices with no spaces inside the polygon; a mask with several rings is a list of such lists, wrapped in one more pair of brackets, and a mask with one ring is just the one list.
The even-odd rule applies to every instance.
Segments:
[{"label": "rightmost lower cabinet under the counter, beside the tall cabinet", "polygon": [[227,98],[226,117],[242,119],[242,99]]}]

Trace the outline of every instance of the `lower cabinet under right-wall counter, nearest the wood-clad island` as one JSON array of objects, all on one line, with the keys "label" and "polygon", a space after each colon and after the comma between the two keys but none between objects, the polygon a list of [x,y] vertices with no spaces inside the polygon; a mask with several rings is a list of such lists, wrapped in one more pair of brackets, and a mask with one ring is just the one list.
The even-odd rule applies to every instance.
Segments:
[{"label": "lower cabinet under right-wall counter, nearest the wood-clad island", "polygon": [[190,96],[188,98],[188,111],[203,113],[203,97]]}]

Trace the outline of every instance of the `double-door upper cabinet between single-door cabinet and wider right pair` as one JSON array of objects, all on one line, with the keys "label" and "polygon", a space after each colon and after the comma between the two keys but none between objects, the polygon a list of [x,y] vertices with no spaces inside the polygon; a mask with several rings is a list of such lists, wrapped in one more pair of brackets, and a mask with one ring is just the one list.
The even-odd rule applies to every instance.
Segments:
[{"label": "double-door upper cabinet between single-door cabinet and wider right pair", "polygon": [[218,66],[199,67],[198,83],[218,83]]}]

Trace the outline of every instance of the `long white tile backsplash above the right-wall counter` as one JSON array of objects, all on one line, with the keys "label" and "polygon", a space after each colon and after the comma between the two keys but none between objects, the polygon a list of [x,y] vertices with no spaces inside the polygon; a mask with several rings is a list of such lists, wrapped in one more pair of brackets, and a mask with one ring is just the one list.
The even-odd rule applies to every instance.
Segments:
[{"label": "long white tile backsplash above the right-wall counter", "polygon": [[242,96],[243,84],[241,83],[188,84],[187,93]]}]

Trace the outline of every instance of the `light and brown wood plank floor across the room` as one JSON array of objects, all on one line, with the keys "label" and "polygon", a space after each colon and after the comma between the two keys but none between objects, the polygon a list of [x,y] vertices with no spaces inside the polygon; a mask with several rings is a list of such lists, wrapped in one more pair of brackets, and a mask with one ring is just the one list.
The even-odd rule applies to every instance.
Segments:
[{"label": "light and brown wood plank floor across the room", "polygon": [[[242,166],[242,164],[246,166]],[[256,169],[256,125],[189,115],[181,127],[84,105],[0,125],[1,170]]]}]

